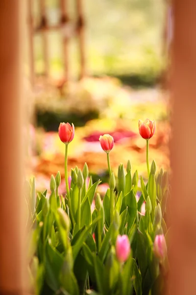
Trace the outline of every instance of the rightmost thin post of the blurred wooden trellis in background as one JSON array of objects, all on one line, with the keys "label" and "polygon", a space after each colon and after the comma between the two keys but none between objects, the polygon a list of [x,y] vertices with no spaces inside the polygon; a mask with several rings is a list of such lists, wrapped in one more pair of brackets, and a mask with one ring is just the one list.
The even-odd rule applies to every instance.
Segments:
[{"label": "rightmost thin post of the blurred wooden trellis in background", "polygon": [[85,36],[84,36],[84,16],[82,10],[82,0],[76,0],[77,9],[77,32],[79,38],[79,50],[80,50],[80,76],[82,79],[86,75],[86,60],[85,60]]}]

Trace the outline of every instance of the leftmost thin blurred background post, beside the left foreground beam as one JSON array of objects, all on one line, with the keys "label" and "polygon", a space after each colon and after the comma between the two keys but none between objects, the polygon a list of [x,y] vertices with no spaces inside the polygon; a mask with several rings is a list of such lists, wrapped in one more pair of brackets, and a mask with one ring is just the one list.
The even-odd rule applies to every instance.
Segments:
[{"label": "leftmost thin blurred background post, beside the left foreground beam", "polygon": [[33,46],[33,16],[32,16],[32,0],[27,2],[27,23],[28,23],[28,40],[29,40],[29,79],[31,86],[34,86],[34,46]]}]

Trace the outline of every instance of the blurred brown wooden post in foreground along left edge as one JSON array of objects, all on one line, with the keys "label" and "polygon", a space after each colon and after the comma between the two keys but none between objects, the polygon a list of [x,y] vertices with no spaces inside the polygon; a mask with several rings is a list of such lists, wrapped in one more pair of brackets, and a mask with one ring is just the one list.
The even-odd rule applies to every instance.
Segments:
[{"label": "blurred brown wooden post in foreground along left edge", "polygon": [[13,295],[28,294],[23,292],[22,2],[0,1],[0,294]]}]

